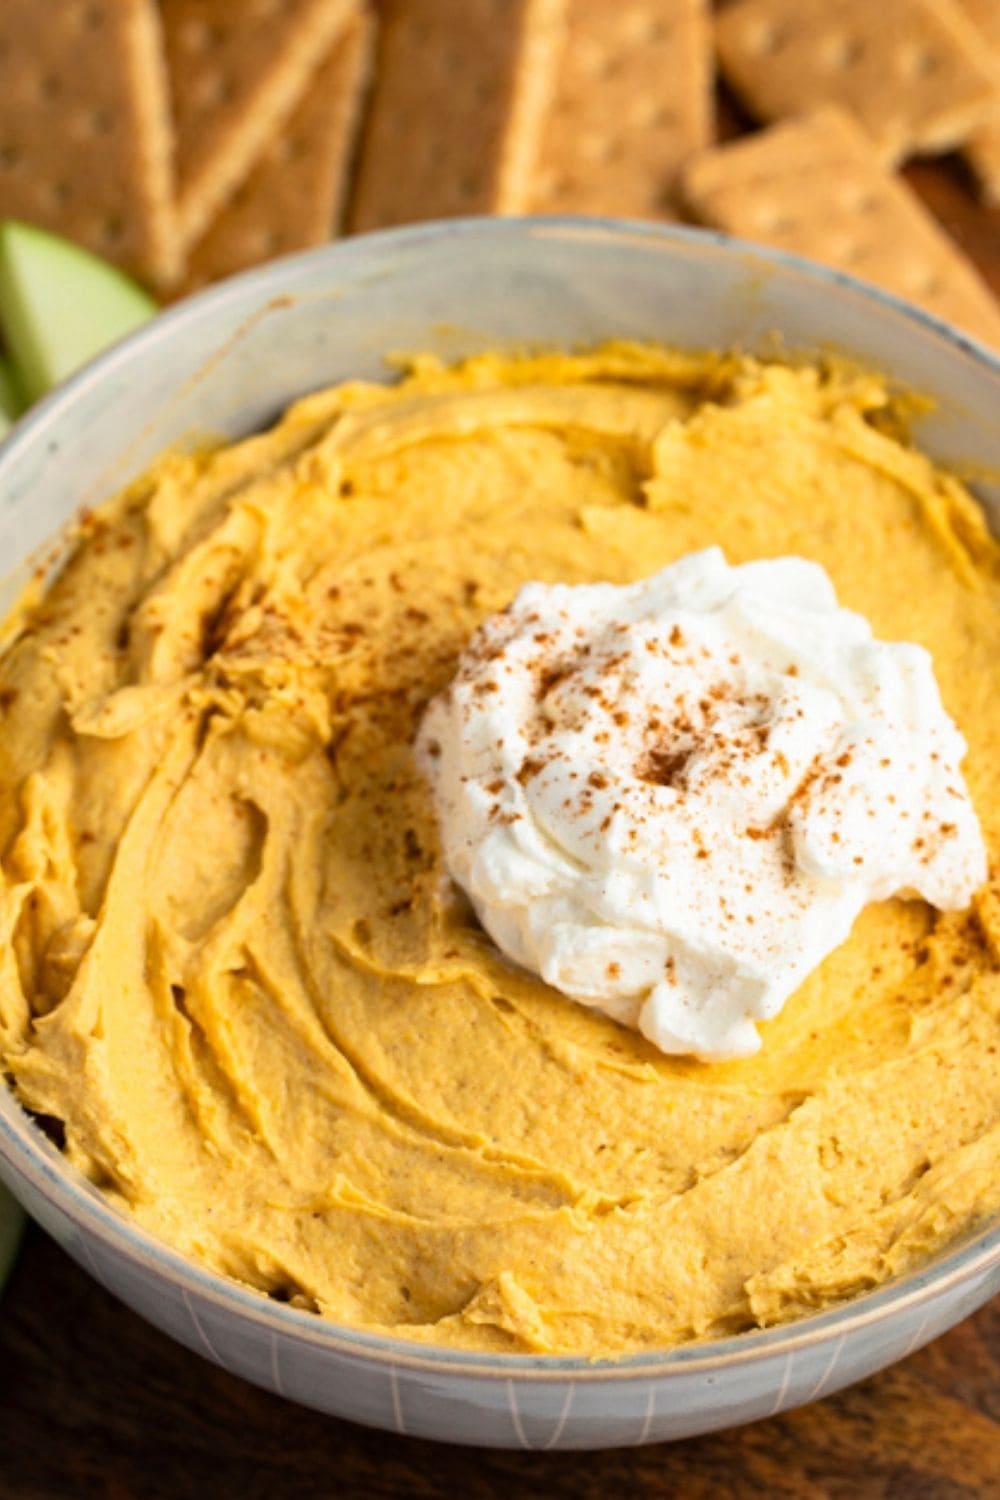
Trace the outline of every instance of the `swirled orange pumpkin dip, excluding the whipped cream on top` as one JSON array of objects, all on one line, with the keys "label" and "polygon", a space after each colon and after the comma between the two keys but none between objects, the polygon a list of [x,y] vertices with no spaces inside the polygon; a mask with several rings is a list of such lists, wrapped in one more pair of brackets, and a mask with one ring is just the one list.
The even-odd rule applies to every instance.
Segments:
[{"label": "swirled orange pumpkin dip, excluding the whipped cream on top", "polygon": [[1000,1208],[1000,885],[867,908],[751,1058],[502,960],[412,740],[526,580],[711,544],[927,646],[1000,843],[1000,549],[870,375],[612,345],[415,360],[168,458],[0,658],[0,1047],[204,1264],[429,1344],[613,1354],[802,1316]]}]

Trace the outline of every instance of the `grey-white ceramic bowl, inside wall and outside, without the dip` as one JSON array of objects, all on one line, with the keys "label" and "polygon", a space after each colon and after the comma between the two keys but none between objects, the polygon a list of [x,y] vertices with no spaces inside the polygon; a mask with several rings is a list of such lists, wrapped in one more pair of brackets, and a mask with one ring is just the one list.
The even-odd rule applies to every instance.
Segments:
[{"label": "grey-white ceramic bowl, inside wall and outside, without the dip", "polygon": [[[0,610],[81,504],[168,444],[238,436],[303,392],[381,378],[391,350],[454,358],[612,334],[835,346],[936,399],[919,432],[936,458],[1000,474],[1000,362],[871,286],[693,230],[432,224],[216,286],[37,406],[0,448]],[[1000,490],[978,488],[1000,516]],[[901,1359],[1000,1287],[1000,1227],[990,1227],[915,1275],[787,1328],[613,1362],[463,1354],[352,1332],[189,1263],[75,1174],[1,1086],[0,1178],[102,1286],[205,1358],[322,1412],[456,1443],[604,1448],[766,1418]]]}]

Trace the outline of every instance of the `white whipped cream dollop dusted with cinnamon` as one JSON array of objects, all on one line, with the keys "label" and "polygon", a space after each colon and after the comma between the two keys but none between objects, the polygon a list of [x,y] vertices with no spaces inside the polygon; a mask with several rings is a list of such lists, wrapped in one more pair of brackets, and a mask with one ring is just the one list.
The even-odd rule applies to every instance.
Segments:
[{"label": "white whipped cream dollop dusted with cinnamon", "polygon": [[502,952],[666,1053],[756,1052],[868,902],[961,909],[987,878],[930,654],[801,558],[528,584],[417,753]]}]

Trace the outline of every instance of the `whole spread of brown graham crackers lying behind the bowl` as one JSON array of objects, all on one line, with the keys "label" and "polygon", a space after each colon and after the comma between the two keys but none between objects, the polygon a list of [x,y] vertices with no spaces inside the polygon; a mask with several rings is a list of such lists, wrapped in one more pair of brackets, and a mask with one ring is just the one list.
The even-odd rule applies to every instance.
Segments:
[{"label": "whole spread of brown graham crackers lying behind the bowl", "polygon": [[[763,126],[723,144],[717,68]],[[1000,346],[898,174],[952,152],[1000,204],[1000,0],[0,4],[0,214],[168,296],[417,219],[688,218]]]}]

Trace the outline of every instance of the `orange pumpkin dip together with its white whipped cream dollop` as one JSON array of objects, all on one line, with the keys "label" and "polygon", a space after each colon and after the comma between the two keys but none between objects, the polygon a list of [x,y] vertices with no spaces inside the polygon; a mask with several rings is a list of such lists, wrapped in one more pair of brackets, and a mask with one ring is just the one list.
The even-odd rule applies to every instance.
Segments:
[{"label": "orange pumpkin dip together with its white whipped cream dollop", "polygon": [[0,1054],[199,1264],[435,1346],[787,1322],[1000,1209],[1000,548],[841,364],[406,363],[0,654]]}]

